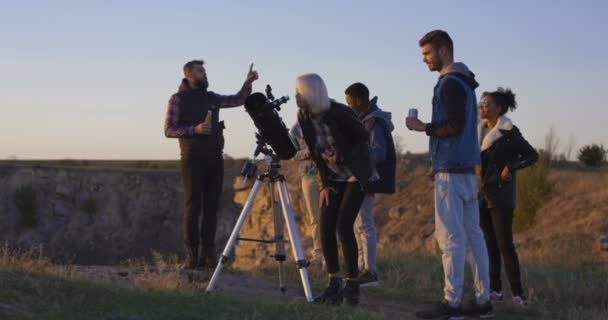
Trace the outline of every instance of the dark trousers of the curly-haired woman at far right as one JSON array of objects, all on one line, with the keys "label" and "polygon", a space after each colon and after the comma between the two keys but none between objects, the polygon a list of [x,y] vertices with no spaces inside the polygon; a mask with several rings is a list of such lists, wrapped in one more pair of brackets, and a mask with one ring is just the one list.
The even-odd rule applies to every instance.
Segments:
[{"label": "dark trousers of the curly-haired woman at far right", "polygon": [[513,244],[513,209],[479,208],[479,221],[488,247],[490,259],[490,288],[501,291],[501,257],[513,295],[524,293],[521,285],[519,259]]}]

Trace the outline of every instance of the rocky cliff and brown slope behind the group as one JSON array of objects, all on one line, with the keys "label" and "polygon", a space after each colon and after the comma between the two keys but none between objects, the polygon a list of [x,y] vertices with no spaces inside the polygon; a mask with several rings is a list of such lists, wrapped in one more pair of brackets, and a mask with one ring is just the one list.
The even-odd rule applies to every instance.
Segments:
[{"label": "rocky cliff and brown slope behind the group", "polygon": [[[221,251],[249,188],[240,187],[242,162],[226,165],[218,227]],[[302,243],[311,245],[297,164],[283,162]],[[263,171],[263,165],[258,172]],[[383,252],[435,251],[432,182],[421,156],[403,157],[397,167],[398,192],[376,197],[379,247]],[[523,256],[562,261],[596,261],[599,237],[608,233],[608,172],[555,170],[550,200],[532,228],[516,236]],[[35,227],[21,222],[18,190],[35,193]],[[250,184],[249,184],[250,186]],[[117,264],[153,251],[181,256],[182,187],[175,170],[0,165],[0,242],[42,248],[59,262]],[[240,236],[274,235],[270,193],[260,190]],[[285,232],[286,233],[286,232]],[[287,234],[287,233],[286,233]],[[240,241],[235,266],[256,268],[273,261],[273,245]],[[291,259],[291,250],[286,247]],[[308,250],[305,251],[308,253]]]}]

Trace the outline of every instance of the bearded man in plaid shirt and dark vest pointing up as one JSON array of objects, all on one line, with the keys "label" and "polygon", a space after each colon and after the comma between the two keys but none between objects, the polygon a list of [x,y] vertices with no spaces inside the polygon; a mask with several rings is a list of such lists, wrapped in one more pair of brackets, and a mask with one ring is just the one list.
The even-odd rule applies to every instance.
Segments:
[{"label": "bearded man in plaid shirt and dark vest pointing up", "polygon": [[[209,82],[202,60],[184,65],[179,92],[171,96],[165,118],[165,136],[179,138],[184,183],[184,269],[211,267],[215,257],[217,212],[224,181],[224,121],[220,108],[238,107],[251,93],[258,73],[249,67],[235,95],[207,91]],[[201,208],[203,217],[200,219]],[[199,252],[200,250],[200,252]]]}]

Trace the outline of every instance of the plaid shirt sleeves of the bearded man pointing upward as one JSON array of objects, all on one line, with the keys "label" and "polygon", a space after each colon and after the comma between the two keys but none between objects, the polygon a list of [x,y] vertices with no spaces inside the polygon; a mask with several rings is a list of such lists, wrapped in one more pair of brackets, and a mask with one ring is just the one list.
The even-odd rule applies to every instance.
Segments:
[{"label": "plaid shirt sleeves of the bearded man pointing upward", "polygon": [[[238,107],[245,103],[247,96],[251,94],[251,83],[245,82],[241,90],[234,95],[215,94],[220,102],[220,108]],[[174,94],[169,99],[167,115],[165,116],[165,136],[167,138],[190,137],[194,135],[194,126],[180,125],[181,103],[179,96]]]}]

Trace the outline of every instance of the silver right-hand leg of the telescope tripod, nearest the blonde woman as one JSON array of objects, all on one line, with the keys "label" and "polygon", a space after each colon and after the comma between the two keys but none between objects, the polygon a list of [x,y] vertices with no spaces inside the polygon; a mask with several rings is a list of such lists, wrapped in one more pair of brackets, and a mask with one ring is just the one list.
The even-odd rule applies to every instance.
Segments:
[{"label": "silver right-hand leg of the telescope tripod, nearest the blonde woman", "polygon": [[277,190],[279,191],[279,197],[281,198],[281,205],[283,207],[283,217],[287,224],[287,232],[289,232],[289,239],[291,240],[291,248],[293,254],[296,257],[298,268],[300,269],[300,278],[302,279],[302,286],[304,287],[304,294],[306,295],[306,301],[312,302],[312,290],[310,289],[310,282],[308,281],[308,273],[306,272],[306,266],[308,261],[304,259],[304,252],[302,250],[302,244],[300,243],[300,234],[298,233],[298,226],[293,214],[293,208],[287,193],[287,186],[285,181],[280,180],[277,184]]}]

